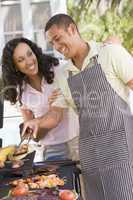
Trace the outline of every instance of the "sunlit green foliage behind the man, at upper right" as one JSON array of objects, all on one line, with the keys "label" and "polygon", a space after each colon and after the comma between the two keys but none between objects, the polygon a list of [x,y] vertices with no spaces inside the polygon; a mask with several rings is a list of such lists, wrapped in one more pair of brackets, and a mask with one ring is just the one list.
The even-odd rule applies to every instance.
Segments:
[{"label": "sunlit green foliage behind the man, at upper right", "polygon": [[99,2],[68,0],[68,14],[78,24],[84,39],[104,41],[108,36],[116,35],[133,54],[133,1],[123,0],[121,11],[121,1],[112,1],[103,15],[99,12]]}]

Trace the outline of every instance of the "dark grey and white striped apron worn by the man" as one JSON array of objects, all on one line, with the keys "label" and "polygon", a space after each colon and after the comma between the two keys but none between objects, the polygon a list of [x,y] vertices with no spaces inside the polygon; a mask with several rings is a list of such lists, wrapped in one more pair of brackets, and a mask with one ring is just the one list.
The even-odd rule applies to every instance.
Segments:
[{"label": "dark grey and white striped apron worn by the man", "polygon": [[86,200],[133,200],[133,116],[92,59],[68,84],[79,112]]}]

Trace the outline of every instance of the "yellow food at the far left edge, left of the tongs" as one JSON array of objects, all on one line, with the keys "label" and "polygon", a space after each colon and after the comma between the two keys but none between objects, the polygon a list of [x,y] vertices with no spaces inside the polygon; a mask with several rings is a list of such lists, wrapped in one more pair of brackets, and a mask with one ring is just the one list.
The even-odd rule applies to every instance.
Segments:
[{"label": "yellow food at the far left edge, left of the tongs", "polygon": [[13,155],[16,150],[16,146],[11,145],[0,149],[0,168],[5,166],[5,161],[8,158],[8,155]]}]

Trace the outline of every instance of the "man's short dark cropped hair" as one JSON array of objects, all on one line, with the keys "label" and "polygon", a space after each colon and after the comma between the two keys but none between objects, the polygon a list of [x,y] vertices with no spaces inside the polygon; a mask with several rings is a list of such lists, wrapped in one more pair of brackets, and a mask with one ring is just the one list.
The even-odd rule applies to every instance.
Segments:
[{"label": "man's short dark cropped hair", "polygon": [[67,28],[70,24],[74,24],[78,31],[77,25],[75,21],[72,19],[72,17],[66,14],[56,14],[53,17],[51,17],[46,23],[45,32],[47,32],[53,25]]}]

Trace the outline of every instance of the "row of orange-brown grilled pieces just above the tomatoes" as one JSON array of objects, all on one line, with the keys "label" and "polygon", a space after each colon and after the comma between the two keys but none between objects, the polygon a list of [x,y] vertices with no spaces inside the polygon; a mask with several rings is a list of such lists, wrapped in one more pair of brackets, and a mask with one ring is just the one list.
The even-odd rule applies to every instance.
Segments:
[{"label": "row of orange-brown grilled pieces just above the tomatoes", "polygon": [[49,176],[37,175],[26,179],[18,179],[10,182],[10,184],[13,186],[26,184],[30,189],[43,189],[46,187],[52,188],[56,186],[63,186],[64,180],[60,179],[56,174]]}]

